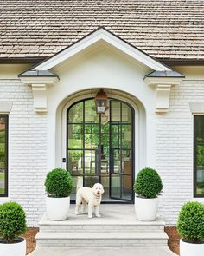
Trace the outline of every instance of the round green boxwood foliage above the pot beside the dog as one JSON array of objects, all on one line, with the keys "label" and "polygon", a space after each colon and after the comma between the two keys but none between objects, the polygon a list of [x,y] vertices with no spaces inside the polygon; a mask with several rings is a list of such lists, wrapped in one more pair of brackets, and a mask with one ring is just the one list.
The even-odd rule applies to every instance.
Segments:
[{"label": "round green boxwood foliage above the pot beside the dog", "polygon": [[73,190],[73,179],[67,170],[56,168],[49,172],[45,181],[49,197],[67,197]]}]

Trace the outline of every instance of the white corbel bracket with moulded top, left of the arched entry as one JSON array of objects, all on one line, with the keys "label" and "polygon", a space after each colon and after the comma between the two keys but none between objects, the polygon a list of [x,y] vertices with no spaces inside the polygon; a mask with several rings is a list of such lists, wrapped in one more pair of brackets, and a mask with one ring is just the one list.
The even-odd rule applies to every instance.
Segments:
[{"label": "white corbel bracket with moulded top, left of the arched entry", "polygon": [[31,85],[35,112],[47,112],[47,89],[59,81],[58,77],[20,77],[21,82]]}]

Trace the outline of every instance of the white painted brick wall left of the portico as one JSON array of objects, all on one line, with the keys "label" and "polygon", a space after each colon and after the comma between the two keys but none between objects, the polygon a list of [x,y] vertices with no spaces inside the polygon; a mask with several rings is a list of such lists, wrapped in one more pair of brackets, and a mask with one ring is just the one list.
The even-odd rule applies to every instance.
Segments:
[{"label": "white painted brick wall left of the portico", "polygon": [[0,80],[0,101],[13,102],[9,116],[9,196],[24,207],[29,226],[44,213],[47,117],[35,114],[31,89],[19,80]]}]

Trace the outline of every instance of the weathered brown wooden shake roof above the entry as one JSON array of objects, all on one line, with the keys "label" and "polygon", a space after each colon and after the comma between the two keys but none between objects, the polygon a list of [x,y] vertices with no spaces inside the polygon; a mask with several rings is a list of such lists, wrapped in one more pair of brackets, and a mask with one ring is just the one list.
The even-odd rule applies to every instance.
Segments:
[{"label": "weathered brown wooden shake roof above the entry", "polygon": [[99,26],[160,60],[204,60],[201,0],[0,0],[0,58],[44,59]]}]

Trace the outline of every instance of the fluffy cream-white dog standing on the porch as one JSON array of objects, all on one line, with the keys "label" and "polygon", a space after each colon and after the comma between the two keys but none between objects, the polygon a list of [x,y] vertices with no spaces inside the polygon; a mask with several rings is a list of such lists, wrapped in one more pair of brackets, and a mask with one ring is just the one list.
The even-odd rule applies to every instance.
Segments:
[{"label": "fluffy cream-white dog standing on the porch", "polygon": [[104,193],[104,187],[100,183],[96,183],[92,188],[80,187],[76,194],[76,215],[79,213],[80,204],[83,206],[83,213],[85,213],[86,205],[88,204],[88,218],[92,218],[93,208],[95,209],[96,217],[101,217],[99,214],[99,206]]}]

